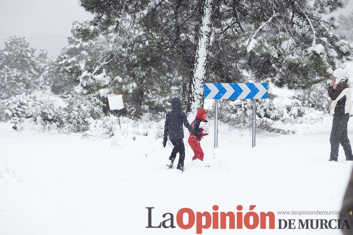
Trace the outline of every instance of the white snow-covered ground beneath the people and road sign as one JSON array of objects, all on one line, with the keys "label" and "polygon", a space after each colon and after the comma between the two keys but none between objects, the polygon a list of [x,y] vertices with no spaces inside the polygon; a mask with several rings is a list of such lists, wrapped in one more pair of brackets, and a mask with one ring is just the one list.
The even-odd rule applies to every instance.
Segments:
[{"label": "white snow-covered ground beneath the people and road sign", "polygon": [[[18,132],[0,124],[0,234],[196,234],[195,226],[145,228],[146,207],[155,208],[154,224],[166,212],[176,216],[184,207],[212,212],[213,205],[225,212],[243,205],[244,214],[257,205],[257,212],[275,213],[276,228],[277,219],[337,218],[277,215],[280,210],[340,210],[352,163],[341,147],[339,162],[328,162],[329,118],[298,125],[294,135],[258,133],[255,148],[251,130],[220,123],[215,158],[212,120],[209,125],[201,145],[210,167],[191,162],[185,139],[186,171],[181,173],[166,169],[172,147],[169,141],[162,147],[157,130],[135,140],[116,138],[135,128],[122,123],[114,137],[103,139]],[[348,136],[353,140],[353,131]],[[259,230],[205,229],[203,234],[340,234],[338,229]]]}]

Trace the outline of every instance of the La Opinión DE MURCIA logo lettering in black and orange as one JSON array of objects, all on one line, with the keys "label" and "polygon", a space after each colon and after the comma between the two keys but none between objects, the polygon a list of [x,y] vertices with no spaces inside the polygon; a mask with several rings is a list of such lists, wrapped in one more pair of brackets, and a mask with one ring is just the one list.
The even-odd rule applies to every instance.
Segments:
[{"label": "La Opini\u00f3n DE MURCIA logo lettering in black and orange", "polygon": [[[212,212],[194,212],[190,208],[181,208],[177,212],[176,225],[181,229],[191,229],[195,226],[196,234],[202,234],[203,229],[275,229],[274,212],[255,212],[256,205],[250,205],[248,212],[243,212],[243,206],[237,206],[237,212],[219,212],[219,206],[214,205]],[[146,228],[176,228],[174,215],[164,213],[159,224],[152,224],[152,209],[148,210],[148,226]],[[187,216],[187,219],[184,217]],[[277,229],[350,229],[346,219],[278,219]]]}]

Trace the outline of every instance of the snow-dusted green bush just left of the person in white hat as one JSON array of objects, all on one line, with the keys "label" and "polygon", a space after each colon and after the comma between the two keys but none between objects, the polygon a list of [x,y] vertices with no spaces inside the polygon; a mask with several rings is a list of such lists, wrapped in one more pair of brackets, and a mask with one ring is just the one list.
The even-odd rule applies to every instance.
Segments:
[{"label": "snow-dusted green bush just left of the person in white hat", "polygon": [[299,99],[306,107],[327,112],[327,108],[322,101],[324,98],[330,100],[327,88],[328,82],[321,82],[313,85],[310,89],[297,92],[295,97]]}]

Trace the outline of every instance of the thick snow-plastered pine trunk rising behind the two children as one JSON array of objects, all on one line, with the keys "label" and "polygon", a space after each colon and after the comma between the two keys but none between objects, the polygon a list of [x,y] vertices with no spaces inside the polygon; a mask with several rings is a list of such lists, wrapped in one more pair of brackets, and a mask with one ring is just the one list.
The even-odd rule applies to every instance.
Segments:
[{"label": "thick snow-plastered pine trunk rising behind the two children", "polygon": [[207,74],[207,57],[210,46],[213,0],[202,0],[199,7],[200,23],[195,28],[195,53],[190,72],[186,112],[203,108],[204,83]]}]

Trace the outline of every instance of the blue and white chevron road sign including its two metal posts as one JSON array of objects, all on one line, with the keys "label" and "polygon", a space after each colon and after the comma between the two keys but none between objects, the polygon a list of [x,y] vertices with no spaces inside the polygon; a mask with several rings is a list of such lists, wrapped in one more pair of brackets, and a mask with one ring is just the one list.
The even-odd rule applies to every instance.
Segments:
[{"label": "blue and white chevron road sign including its two metal posts", "polygon": [[215,100],[215,150],[218,147],[218,100],[252,99],[252,147],[255,147],[256,100],[267,99],[267,83],[205,83],[204,98]]}]

